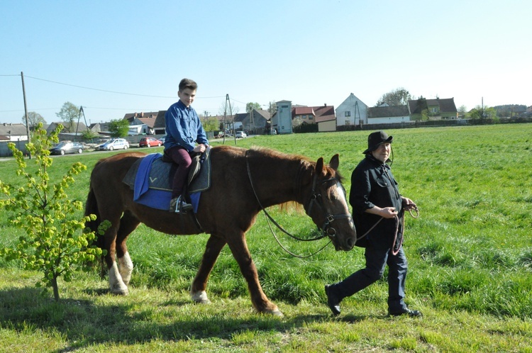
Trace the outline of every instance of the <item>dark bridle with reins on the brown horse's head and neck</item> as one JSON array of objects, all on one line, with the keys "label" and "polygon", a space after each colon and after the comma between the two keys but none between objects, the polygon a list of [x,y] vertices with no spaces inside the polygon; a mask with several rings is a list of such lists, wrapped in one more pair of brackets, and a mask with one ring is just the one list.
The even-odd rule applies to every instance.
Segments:
[{"label": "dark bridle with reins on the brown horse's head and neck", "polygon": [[[332,215],[331,213],[327,213],[326,212],[326,210],[325,210],[325,208],[323,206],[323,198],[322,198],[321,194],[318,194],[318,192],[316,191],[316,185],[318,184],[318,182],[317,182],[317,180],[318,180],[317,174],[314,174],[314,179],[312,181],[312,191],[311,191],[311,196],[310,196],[309,201],[308,201],[308,206],[306,206],[304,208],[305,208],[305,213],[307,215],[309,215],[309,217],[311,217],[310,212],[312,210],[312,207],[314,206],[314,203],[316,203],[316,205],[323,211],[323,215],[325,215],[325,221],[323,222],[323,226],[321,227],[321,229],[318,228],[321,231],[321,235],[319,235],[318,237],[310,238],[310,239],[303,239],[303,238],[296,237],[295,235],[290,234],[289,232],[287,232],[287,230],[284,230],[284,228],[282,228],[282,226],[279,225],[279,223],[277,223],[272,218],[270,213],[267,213],[267,211],[265,210],[264,206],[262,206],[262,203],[260,202],[260,199],[257,196],[257,191],[255,191],[255,186],[253,185],[253,178],[251,177],[251,169],[250,169],[250,164],[249,164],[249,161],[248,161],[248,152],[249,152],[249,150],[247,150],[245,152],[245,165],[246,165],[246,167],[248,169],[248,178],[250,179],[251,189],[253,190],[253,194],[255,195],[255,199],[257,200],[257,203],[259,204],[260,209],[262,210],[262,212],[265,213],[267,218],[269,218],[272,221],[272,223],[274,223],[275,226],[277,228],[279,228],[279,230],[284,232],[284,234],[288,235],[289,237],[292,237],[295,240],[301,240],[303,242],[310,242],[310,241],[314,241],[314,240],[320,240],[320,239],[322,239],[324,237],[329,237],[331,239],[333,237],[336,237],[336,229],[331,227],[331,223],[334,220],[337,220],[337,219],[351,218],[351,215],[350,215],[350,213],[344,213],[344,214],[340,214],[340,215]],[[320,181],[318,185],[324,184],[324,183],[326,183],[328,181],[336,181],[336,183],[340,182],[340,181],[338,181],[338,179],[336,177],[332,177],[330,179],[326,179],[326,180]],[[345,194],[345,191],[344,191],[344,194]],[[271,229],[271,227],[270,227],[270,229]],[[275,233],[274,233],[274,236],[275,236]],[[277,237],[275,237],[275,239],[277,240]],[[277,240],[277,242],[279,243],[279,245],[281,245],[279,240]],[[320,252],[321,250],[323,250],[323,248],[325,248],[327,245],[328,245],[328,243],[326,245],[324,245],[317,252]],[[292,252],[289,252],[289,250],[284,248],[282,245],[281,245],[281,247],[283,248],[283,250],[285,250],[289,254],[292,254]],[[314,252],[314,254],[316,254],[317,252]],[[312,256],[314,254],[311,254],[309,256]],[[295,256],[295,257],[301,257],[301,256],[299,256],[297,254],[292,254],[292,255]],[[309,256],[306,256],[306,257],[309,257]]]}]

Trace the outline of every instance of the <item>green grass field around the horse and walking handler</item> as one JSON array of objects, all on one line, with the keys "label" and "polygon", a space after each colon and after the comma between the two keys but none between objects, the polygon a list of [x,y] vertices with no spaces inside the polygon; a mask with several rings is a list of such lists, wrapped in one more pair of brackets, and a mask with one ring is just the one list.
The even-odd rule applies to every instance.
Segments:
[{"label": "green grass field around the horse and walking handler", "polygon": [[[0,259],[0,352],[532,352],[532,124],[387,132],[394,136],[392,170],[401,193],[421,213],[406,216],[404,243],[406,301],[423,312],[421,320],[386,316],[385,279],[346,298],[342,314],[333,318],[323,285],[360,269],[363,250],[335,252],[329,246],[309,259],[294,258],[259,215],[248,246],[262,287],[284,318],[253,312],[227,248],[207,288],[213,303],[191,303],[189,285],[208,236],[170,237],[141,225],[128,241],[135,270],[127,297],[107,293],[107,281],[95,269],[60,281],[63,299],[53,303],[50,293],[33,287],[40,274]],[[339,153],[349,192],[368,133],[260,136],[237,143],[326,162]],[[94,163],[107,155],[56,157],[50,174],[59,178],[76,160],[86,164],[87,172],[69,190],[84,200]],[[0,162],[0,179],[13,180],[14,168],[13,161]],[[296,234],[316,228],[296,211],[269,211]],[[0,229],[0,246],[16,242],[18,230],[5,213]],[[326,243],[277,233],[298,254]]]}]

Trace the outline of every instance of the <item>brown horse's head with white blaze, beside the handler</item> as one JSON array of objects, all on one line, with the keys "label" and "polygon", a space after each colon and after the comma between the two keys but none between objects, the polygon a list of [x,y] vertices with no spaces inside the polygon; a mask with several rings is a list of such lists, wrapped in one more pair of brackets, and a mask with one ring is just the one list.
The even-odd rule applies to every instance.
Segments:
[{"label": "brown horse's head with white blaze, beside the handler", "polygon": [[353,218],[349,213],[345,189],[338,174],[338,155],[326,166],[318,159],[314,169],[309,201],[304,204],[306,214],[333,242],[336,250],[351,250],[357,240]]}]

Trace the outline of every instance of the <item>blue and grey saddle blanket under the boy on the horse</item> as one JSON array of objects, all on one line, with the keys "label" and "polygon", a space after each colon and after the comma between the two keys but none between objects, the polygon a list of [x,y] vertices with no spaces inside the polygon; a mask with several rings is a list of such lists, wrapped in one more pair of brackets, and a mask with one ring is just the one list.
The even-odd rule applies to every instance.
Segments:
[{"label": "blue and grey saddle blanket under the boy on the horse", "polygon": [[[197,213],[201,191],[211,186],[210,149],[192,158],[187,181],[187,194]],[[160,153],[152,153],[140,158],[129,169],[123,183],[133,190],[133,201],[151,208],[168,210],[172,199],[172,180],[177,165],[163,162]]]}]

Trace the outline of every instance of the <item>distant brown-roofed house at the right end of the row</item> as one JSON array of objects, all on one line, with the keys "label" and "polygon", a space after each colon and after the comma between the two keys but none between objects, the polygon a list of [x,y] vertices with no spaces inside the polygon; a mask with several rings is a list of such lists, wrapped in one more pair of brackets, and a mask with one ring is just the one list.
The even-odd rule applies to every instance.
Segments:
[{"label": "distant brown-roofed house at the right end of the row", "polygon": [[410,119],[421,121],[423,116],[428,120],[453,120],[458,119],[455,99],[414,99],[408,101]]}]

